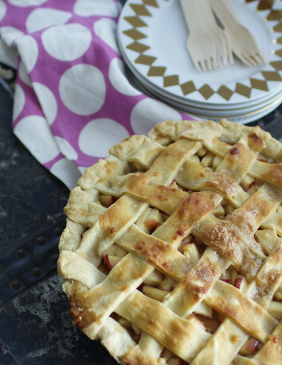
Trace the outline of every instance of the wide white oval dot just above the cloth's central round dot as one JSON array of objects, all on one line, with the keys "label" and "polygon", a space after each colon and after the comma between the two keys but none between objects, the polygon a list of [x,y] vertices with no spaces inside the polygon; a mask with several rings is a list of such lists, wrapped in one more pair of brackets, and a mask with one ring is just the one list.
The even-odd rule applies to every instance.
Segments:
[{"label": "wide white oval dot just above the cloth's central round dot", "polygon": [[46,52],[61,61],[81,57],[88,50],[91,39],[90,30],[76,23],[48,28],[41,35]]}]

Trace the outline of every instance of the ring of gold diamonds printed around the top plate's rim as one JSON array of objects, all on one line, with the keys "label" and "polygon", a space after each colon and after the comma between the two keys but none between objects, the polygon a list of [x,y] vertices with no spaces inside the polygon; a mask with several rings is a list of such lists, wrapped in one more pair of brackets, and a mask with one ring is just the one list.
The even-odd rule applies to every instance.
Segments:
[{"label": "ring of gold diamonds printed around the top plate's rim", "polygon": [[[179,85],[180,89],[183,92],[183,95],[188,95],[192,92],[199,92],[206,100],[208,100],[212,95],[218,94],[225,100],[229,100],[231,96],[236,93],[246,97],[247,99],[251,97],[252,89],[268,91],[268,81],[276,81],[281,82],[282,77],[280,76],[278,71],[282,71],[282,60],[271,62],[270,66],[273,68],[273,71],[261,71],[260,74],[264,79],[256,79],[250,77],[251,87],[245,86],[243,84],[237,83],[235,87],[235,91],[229,89],[225,85],[221,85],[218,90],[213,90],[209,85],[203,85],[199,89],[197,89],[192,80],[188,80],[183,84],[179,84],[179,76],[178,75],[166,75],[166,66],[154,66],[153,64],[156,62],[157,57],[148,56],[143,54],[145,51],[150,49],[149,46],[142,43],[142,39],[147,38],[147,35],[142,33],[142,30],[137,28],[148,27],[146,22],[140,18],[140,16],[148,16],[151,17],[152,14],[150,12],[150,7],[158,8],[158,0],[142,0],[143,4],[134,4],[130,3],[129,6],[135,12],[134,16],[126,16],[124,19],[132,26],[131,29],[123,31],[124,34],[128,35],[132,38],[133,43],[126,46],[127,49],[130,49],[136,53],[138,56],[135,59],[135,63],[143,64],[149,66],[149,70],[147,72],[147,76],[162,76],[163,77],[163,85],[164,88]],[[169,1],[169,0],[166,0]],[[257,0],[245,0],[245,3],[250,3]],[[260,0],[257,4],[257,11],[265,11],[268,10],[269,13],[266,16],[266,21],[277,21],[279,22],[275,26],[275,32],[282,33],[282,10],[277,10],[273,8],[274,0]],[[140,42],[141,41],[141,42]],[[276,39],[277,44],[282,44],[282,36]],[[282,49],[276,50],[275,54],[282,59]]]}]

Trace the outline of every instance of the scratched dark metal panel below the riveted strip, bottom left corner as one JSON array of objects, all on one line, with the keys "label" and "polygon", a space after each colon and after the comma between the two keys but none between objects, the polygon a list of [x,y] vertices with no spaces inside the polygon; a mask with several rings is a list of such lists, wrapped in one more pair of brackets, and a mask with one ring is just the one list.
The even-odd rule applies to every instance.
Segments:
[{"label": "scratched dark metal panel below the riveted strip, bottom left corner", "polygon": [[72,325],[61,284],[53,270],[1,306],[0,339],[6,351],[1,364],[116,364],[98,341]]}]

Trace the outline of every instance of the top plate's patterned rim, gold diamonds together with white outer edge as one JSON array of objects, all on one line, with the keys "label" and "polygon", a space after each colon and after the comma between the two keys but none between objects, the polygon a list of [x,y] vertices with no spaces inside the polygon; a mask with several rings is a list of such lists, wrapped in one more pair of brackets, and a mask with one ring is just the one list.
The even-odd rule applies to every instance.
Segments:
[{"label": "top plate's patterned rim, gold diamonds together with white outer edge", "polygon": [[[262,65],[261,70],[259,70],[255,75],[258,77],[253,77],[253,75],[247,77],[246,80],[238,80],[235,83],[235,87],[232,89],[228,85],[219,84],[213,85],[212,83],[206,82],[199,85],[193,78],[187,79],[181,82],[179,74],[169,74],[169,68],[167,65],[158,65],[158,55],[154,54],[154,49],[148,43],[148,29],[149,19],[152,19],[153,9],[161,10],[161,5],[164,2],[171,2],[174,0],[132,0],[126,3],[132,11],[132,16],[124,16],[124,20],[127,22],[129,28],[120,30],[128,38],[127,44],[123,44],[125,52],[126,50],[131,50],[136,53],[131,67],[136,65],[142,65],[147,67],[146,74],[144,75],[149,82],[154,83],[153,78],[160,76],[163,78],[162,87],[170,92],[171,87],[178,86],[179,97],[189,97],[190,94],[197,92],[204,98],[203,101],[209,100],[213,95],[217,94],[222,98],[222,103],[228,103],[234,94],[240,95],[241,102],[251,99],[252,90],[260,90],[262,92],[271,92],[269,83],[275,82],[275,84],[282,81],[281,73],[282,71],[282,2],[280,8],[276,8],[277,2],[274,0],[245,0],[245,5],[248,6],[249,3],[256,5],[255,10],[264,14],[265,21],[274,23],[273,28],[270,28],[269,32],[272,35],[272,43],[275,44],[274,50],[272,51],[272,59],[268,65]],[[234,1],[234,0],[233,0]],[[138,2],[138,4],[137,4]],[[148,19],[148,22],[146,22]],[[281,48],[278,46],[281,45]],[[147,54],[150,50],[150,54]],[[232,66],[230,66],[232,67]],[[138,72],[138,71],[137,71]],[[216,72],[216,71],[215,71]],[[207,73],[208,79],[208,73]],[[227,83],[226,83],[227,84]],[[248,84],[249,86],[247,86]],[[272,86],[273,88],[273,86]],[[173,89],[175,90],[175,88]],[[172,91],[173,93],[173,91]],[[182,94],[181,94],[182,93]],[[200,99],[198,99],[200,101]]]}]

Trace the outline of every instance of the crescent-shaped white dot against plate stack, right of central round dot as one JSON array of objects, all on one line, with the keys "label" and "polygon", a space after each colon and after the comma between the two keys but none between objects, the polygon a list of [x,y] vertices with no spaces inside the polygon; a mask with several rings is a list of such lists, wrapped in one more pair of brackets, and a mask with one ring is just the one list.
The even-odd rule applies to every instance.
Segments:
[{"label": "crescent-shaped white dot against plate stack, right of central round dot", "polygon": [[109,79],[112,86],[125,95],[140,95],[141,92],[135,89],[126,77],[125,65],[119,58],[113,58],[109,67]]}]

